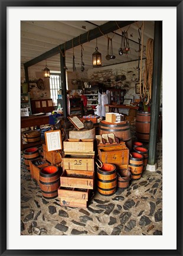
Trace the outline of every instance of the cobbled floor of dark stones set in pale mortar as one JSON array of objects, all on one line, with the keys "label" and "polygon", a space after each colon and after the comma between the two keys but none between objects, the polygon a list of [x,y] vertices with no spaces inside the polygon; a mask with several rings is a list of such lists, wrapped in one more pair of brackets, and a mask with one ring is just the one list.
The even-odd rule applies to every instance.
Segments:
[{"label": "cobbled floor of dark stones set in pale mortar", "polygon": [[96,191],[86,209],[44,199],[21,159],[21,235],[162,235],[162,140],[156,153],[156,172],[113,196]]}]

